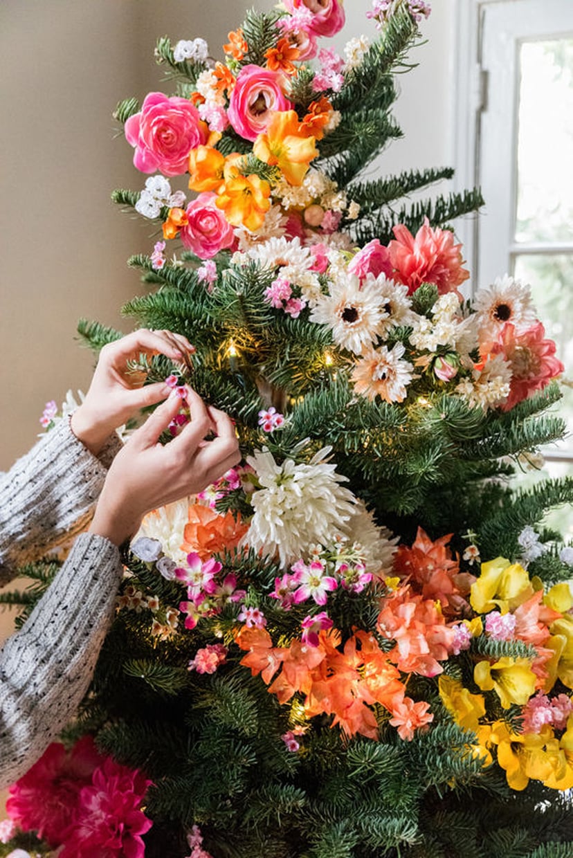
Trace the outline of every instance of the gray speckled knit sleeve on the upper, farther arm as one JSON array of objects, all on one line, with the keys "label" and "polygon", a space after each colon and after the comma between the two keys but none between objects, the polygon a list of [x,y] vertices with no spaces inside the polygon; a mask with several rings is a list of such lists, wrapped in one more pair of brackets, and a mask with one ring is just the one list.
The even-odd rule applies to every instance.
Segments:
[{"label": "gray speckled knit sleeve on the upper, farther arm", "polygon": [[0,475],[0,586],[85,527],[120,445],[112,436],[96,458],[61,420]]}]

